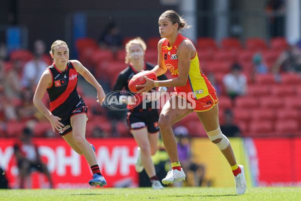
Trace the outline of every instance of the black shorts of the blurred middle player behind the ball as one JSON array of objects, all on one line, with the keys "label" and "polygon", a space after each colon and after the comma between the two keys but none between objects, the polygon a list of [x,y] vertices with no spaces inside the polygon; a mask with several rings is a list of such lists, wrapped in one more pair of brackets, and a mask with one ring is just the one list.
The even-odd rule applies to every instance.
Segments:
[{"label": "black shorts of the blurred middle player behind the ball", "polygon": [[160,130],[158,120],[158,110],[129,112],[127,114],[127,124],[130,130],[147,127],[148,133],[157,133]]}]

